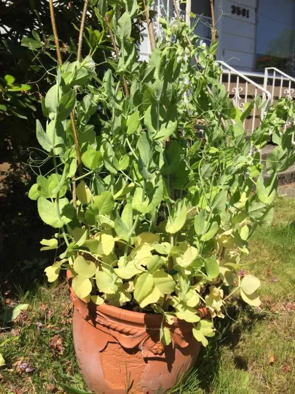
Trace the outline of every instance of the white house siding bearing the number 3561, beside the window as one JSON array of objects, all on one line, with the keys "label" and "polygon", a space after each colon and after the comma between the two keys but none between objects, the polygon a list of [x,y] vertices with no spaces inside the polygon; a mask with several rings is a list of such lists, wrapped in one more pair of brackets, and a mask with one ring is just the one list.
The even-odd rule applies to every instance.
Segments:
[{"label": "white house siding bearing the number 3561, beside the window", "polygon": [[[249,17],[233,13],[234,7],[246,9]],[[257,0],[216,0],[219,50],[217,57],[229,65],[252,71],[255,63]]]}]

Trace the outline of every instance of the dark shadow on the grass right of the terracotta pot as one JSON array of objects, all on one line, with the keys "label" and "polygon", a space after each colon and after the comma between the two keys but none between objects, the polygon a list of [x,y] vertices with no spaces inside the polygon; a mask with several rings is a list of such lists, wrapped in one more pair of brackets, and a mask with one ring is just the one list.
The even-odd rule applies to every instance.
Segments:
[{"label": "dark shadow on the grass right of the terracotta pot", "polygon": [[[228,347],[232,351],[236,348],[242,333],[251,332],[258,321],[266,318],[263,313],[257,313],[246,306],[242,300],[237,300],[236,305],[227,308],[224,319],[218,320],[216,334],[208,338],[206,348],[202,347],[195,366],[190,371],[185,382],[180,382],[170,394],[196,394],[212,393],[213,385],[218,376],[222,363],[222,348]],[[235,356],[237,369],[248,369],[247,360],[241,356]]]}]

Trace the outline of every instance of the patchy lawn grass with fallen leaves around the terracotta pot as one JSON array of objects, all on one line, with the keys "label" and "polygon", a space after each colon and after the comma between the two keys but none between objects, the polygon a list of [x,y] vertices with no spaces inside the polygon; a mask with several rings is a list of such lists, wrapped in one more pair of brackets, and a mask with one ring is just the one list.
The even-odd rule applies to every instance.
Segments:
[{"label": "patchy lawn grass with fallen leaves around the terracotta pot", "polygon": [[[273,225],[256,231],[245,259],[255,263],[251,272],[262,281],[261,310],[235,298],[187,382],[171,394],[294,394],[295,199],[278,197],[275,205]],[[11,281],[2,286],[3,307],[16,301],[29,303],[29,309],[0,329],[0,343],[19,337],[0,348],[7,362],[0,368],[0,394],[63,393],[56,382],[86,390],[75,360],[65,286],[32,282],[30,272],[28,265],[26,287]],[[41,272],[37,268],[36,277]],[[34,370],[22,371],[24,362]]]}]

